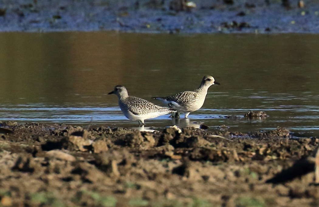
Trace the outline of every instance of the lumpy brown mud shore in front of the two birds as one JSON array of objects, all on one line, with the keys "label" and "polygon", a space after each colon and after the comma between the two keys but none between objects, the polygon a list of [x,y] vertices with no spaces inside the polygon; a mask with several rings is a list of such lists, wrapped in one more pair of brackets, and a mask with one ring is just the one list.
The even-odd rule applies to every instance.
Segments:
[{"label": "lumpy brown mud shore in front of the two birds", "polygon": [[3,206],[317,206],[319,139],[2,124]]}]

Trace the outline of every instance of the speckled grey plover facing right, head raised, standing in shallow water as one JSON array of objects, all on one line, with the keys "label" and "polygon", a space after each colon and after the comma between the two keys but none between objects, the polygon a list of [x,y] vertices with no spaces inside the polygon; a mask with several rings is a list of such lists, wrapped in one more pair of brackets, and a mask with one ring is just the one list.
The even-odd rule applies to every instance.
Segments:
[{"label": "speckled grey plover facing right, head raised, standing in shallow water", "polygon": [[211,85],[220,85],[212,76],[204,76],[199,88],[194,91],[184,91],[172,96],[152,97],[167,104],[168,107],[185,113],[185,118],[190,112],[200,109],[205,101],[207,90]]}]

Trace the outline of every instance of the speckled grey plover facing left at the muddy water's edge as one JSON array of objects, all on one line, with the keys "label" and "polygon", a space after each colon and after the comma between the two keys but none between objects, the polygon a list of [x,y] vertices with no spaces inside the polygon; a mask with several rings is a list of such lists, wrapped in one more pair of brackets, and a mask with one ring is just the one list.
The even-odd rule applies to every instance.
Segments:
[{"label": "speckled grey plover facing left at the muddy water's edge", "polygon": [[138,123],[142,122],[144,125],[145,119],[152,119],[160,115],[165,115],[176,110],[155,105],[147,100],[129,96],[126,88],[122,85],[116,85],[114,90],[108,94],[115,94],[119,99],[119,105],[126,116],[130,120],[137,120]]}]

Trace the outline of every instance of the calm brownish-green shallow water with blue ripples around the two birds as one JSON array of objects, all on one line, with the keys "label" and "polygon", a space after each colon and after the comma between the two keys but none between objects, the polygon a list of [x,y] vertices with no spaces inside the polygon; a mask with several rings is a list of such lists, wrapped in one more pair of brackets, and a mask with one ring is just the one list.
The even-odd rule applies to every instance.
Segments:
[{"label": "calm brownish-green shallow water with blue ripples around the two birds", "polygon": [[[151,100],[193,90],[212,75],[221,85],[211,86],[202,109],[187,120],[147,120],[145,128],[280,126],[297,137],[319,136],[318,35],[0,33],[0,44],[3,122],[137,127],[107,95],[115,85]],[[249,110],[269,116],[249,120]]]}]

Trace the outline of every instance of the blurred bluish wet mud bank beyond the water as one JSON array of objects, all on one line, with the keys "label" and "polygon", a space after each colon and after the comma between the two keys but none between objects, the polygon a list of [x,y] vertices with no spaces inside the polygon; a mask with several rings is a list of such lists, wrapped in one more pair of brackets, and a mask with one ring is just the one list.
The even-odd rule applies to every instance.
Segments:
[{"label": "blurred bluish wet mud bank beyond the water", "polygon": [[[318,33],[317,0],[1,0],[0,31]],[[286,2],[286,3],[285,3]],[[188,6],[189,5],[189,6]],[[196,5],[196,7],[195,7]]]}]

